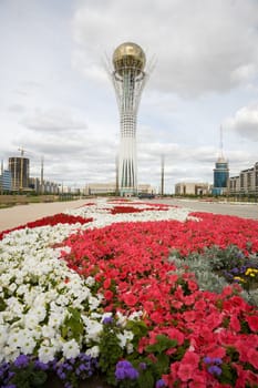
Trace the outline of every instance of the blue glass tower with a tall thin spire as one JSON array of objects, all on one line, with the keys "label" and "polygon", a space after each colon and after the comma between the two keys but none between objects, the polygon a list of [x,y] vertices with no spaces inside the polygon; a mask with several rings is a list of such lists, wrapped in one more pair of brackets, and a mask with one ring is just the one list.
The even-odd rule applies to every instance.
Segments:
[{"label": "blue glass tower with a tall thin spire", "polygon": [[223,127],[220,126],[219,156],[214,169],[214,195],[223,195],[228,192],[229,167],[223,154]]}]

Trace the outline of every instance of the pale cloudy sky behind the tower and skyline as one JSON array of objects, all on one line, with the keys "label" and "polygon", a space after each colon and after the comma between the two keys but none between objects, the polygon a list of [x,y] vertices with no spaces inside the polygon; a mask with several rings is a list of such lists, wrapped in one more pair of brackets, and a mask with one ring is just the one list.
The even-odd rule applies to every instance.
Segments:
[{"label": "pale cloudy sky behind the tower and skyline", "polygon": [[[106,62],[126,41],[146,53],[138,181],[213,183],[258,161],[257,0],[0,0],[0,159],[83,186],[115,181],[120,126]],[[153,67],[154,65],[154,67]]]}]

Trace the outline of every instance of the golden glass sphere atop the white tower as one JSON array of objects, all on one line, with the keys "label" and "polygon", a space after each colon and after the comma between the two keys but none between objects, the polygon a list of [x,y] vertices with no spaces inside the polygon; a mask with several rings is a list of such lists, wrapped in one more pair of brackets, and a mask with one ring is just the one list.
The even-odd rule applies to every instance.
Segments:
[{"label": "golden glass sphere atop the white tower", "polygon": [[126,69],[134,69],[136,72],[141,72],[143,71],[145,63],[145,53],[136,43],[122,43],[114,51],[113,64],[120,74],[123,74]]}]

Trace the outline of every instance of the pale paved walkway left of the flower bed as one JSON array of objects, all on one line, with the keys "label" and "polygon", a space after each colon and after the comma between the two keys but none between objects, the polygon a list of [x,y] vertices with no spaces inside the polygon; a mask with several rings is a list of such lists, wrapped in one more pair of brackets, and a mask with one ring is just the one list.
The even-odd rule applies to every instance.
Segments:
[{"label": "pale paved walkway left of the flower bed", "polygon": [[0,210],[0,232],[23,225],[48,215],[54,215],[69,208],[80,207],[86,200],[71,202],[37,203],[29,205],[17,205]]}]

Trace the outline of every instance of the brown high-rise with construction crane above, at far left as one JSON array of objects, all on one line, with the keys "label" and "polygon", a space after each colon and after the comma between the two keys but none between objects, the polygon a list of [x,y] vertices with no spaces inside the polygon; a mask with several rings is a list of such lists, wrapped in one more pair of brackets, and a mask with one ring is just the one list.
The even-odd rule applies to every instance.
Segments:
[{"label": "brown high-rise with construction crane above, at far left", "polygon": [[23,191],[29,187],[30,160],[28,157],[9,157],[9,171],[13,191]]}]

